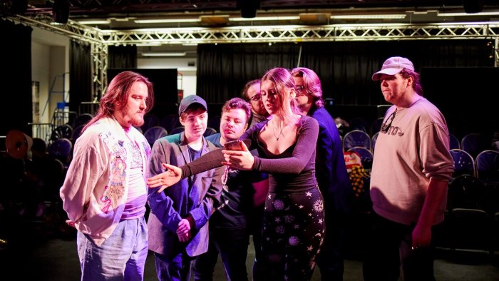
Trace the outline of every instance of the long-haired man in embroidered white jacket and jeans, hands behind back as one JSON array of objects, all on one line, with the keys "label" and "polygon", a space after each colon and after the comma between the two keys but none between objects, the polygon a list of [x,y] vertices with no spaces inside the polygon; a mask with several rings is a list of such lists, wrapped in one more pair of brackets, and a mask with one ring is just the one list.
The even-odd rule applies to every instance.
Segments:
[{"label": "long-haired man in embroidered white jacket and jeans, hands behind back", "polygon": [[78,230],[81,280],[143,280],[150,146],[135,127],[152,107],[148,78],[118,73],[74,145],[60,195]]}]

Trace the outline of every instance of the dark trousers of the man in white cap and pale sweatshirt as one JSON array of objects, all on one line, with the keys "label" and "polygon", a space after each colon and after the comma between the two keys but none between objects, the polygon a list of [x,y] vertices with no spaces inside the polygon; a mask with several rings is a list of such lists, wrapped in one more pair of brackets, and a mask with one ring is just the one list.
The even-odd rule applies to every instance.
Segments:
[{"label": "dark trousers of the man in white cap and pale sweatshirt", "polygon": [[404,281],[435,280],[433,245],[412,249],[414,225],[395,223],[374,211],[371,214],[371,233],[366,236],[364,280],[396,281],[400,272]]}]

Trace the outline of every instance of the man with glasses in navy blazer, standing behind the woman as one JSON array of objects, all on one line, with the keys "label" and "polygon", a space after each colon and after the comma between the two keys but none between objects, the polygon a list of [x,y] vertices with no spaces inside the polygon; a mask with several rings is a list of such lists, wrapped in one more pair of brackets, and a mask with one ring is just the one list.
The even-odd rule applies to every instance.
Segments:
[{"label": "man with glasses in navy blazer, standing behind the woman", "polygon": [[321,280],[343,280],[344,229],[354,193],[346,171],[338,128],[324,108],[321,81],[309,68],[292,70],[296,84],[297,106],[303,115],[319,123],[315,161],[319,189],[324,196],[326,237],[317,258]]}]

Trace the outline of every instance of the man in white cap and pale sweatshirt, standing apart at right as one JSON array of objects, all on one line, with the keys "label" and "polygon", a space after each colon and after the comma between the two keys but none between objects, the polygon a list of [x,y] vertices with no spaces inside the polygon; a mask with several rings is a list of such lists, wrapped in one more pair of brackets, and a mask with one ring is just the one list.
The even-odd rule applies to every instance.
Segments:
[{"label": "man in white cap and pale sweatshirt, standing apart at right", "polygon": [[373,202],[364,280],[435,280],[432,233],[443,221],[453,173],[442,113],[423,98],[407,58],[387,59],[373,74],[393,106],[386,111],[371,170]]}]

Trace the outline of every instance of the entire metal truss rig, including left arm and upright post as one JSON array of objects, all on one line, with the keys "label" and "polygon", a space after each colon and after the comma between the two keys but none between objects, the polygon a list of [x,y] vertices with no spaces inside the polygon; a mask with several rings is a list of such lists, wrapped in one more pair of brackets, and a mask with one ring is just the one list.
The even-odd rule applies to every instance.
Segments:
[{"label": "entire metal truss rig, including left arm and upright post", "polygon": [[[93,61],[101,62],[107,61],[109,45],[490,39],[495,41],[495,66],[499,66],[499,22],[231,26],[123,31],[95,29],[71,20],[67,24],[55,26],[47,16],[14,16],[11,19],[96,45],[94,50],[101,51],[93,51]],[[98,84],[94,85],[94,90],[103,93],[107,83],[102,79],[106,78],[103,73],[107,71],[107,63],[94,64],[93,83]]]}]

